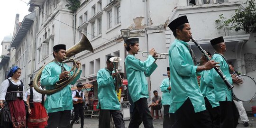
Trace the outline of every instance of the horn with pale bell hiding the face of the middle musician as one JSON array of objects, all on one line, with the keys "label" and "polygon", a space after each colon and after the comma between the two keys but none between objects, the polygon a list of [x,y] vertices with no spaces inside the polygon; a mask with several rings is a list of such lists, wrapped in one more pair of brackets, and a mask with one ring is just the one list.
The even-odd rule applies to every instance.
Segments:
[{"label": "horn with pale bell hiding the face of the middle musician", "polygon": [[116,91],[117,93],[119,93],[119,88],[122,86],[122,83],[121,83],[121,76],[118,72],[118,63],[122,60],[122,58],[120,57],[111,57],[110,58],[110,61],[113,62],[114,64],[114,72],[117,73],[116,75],[116,82],[115,82],[115,88],[116,88]]}]

